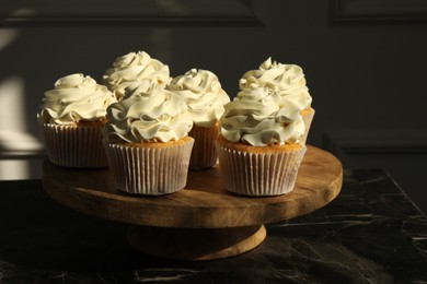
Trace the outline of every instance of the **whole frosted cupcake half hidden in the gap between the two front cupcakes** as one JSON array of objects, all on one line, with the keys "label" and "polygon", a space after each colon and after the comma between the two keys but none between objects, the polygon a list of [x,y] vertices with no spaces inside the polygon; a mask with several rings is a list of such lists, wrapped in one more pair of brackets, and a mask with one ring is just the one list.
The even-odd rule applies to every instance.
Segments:
[{"label": "whole frosted cupcake half hidden in the gap between the two front cupcakes", "polygon": [[217,164],[215,141],[218,138],[218,120],[224,113],[223,105],[230,97],[222,90],[217,75],[207,70],[192,69],[172,79],[168,90],[181,96],[193,118],[189,137],[194,146],[189,159],[191,169],[209,168]]}]

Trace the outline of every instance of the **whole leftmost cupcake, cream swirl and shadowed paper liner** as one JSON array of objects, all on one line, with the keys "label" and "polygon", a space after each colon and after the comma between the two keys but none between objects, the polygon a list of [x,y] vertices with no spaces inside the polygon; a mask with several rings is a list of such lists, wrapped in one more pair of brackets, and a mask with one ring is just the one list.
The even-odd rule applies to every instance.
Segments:
[{"label": "whole leftmost cupcake, cream swirl and shadowed paper liner", "polygon": [[49,161],[68,167],[106,167],[102,129],[106,108],[114,102],[106,86],[81,73],[56,81],[37,114]]}]

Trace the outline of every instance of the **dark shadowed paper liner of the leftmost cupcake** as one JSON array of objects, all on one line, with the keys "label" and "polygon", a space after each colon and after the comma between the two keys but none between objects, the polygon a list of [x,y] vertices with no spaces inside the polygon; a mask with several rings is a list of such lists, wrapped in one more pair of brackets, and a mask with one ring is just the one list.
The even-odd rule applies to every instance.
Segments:
[{"label": "dark shadowed paper liner of the leftmost cupcake", "polygon": [[44,123],[47,156],[67,167],[107,167],[102,144],[102,126],[59,126]]}]

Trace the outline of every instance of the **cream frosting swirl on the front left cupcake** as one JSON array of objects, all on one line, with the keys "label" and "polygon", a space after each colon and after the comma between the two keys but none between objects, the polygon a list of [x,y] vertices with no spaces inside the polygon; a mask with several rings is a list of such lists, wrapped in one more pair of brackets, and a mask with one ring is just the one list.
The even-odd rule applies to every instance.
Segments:
[{"label": "cream frosting swirl on the front left cupcake", "polygon": [[192,117],[180,96],[157,84],[132,84],[122,102],[108,107],[104,138],[129,143],[177,141],[192,127]]}]

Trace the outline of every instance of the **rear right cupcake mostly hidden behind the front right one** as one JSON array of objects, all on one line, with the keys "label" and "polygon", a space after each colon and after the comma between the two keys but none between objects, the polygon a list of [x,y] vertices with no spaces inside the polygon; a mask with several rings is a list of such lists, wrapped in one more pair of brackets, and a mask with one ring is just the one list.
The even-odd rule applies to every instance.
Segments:
[{"label": "rear right cupcake mostly hidden behind the front right one", "polygon": [[259,69],[244,73],[239,81],[239,86],[241,90],[250,86],[265,86],[269,92],[277,92],[284,99],[296,104],[305,123],[305,132],[301,138],[301,143],[305,143],[314,109],[311,107],[312,97],[301,67],[272,62],[272,58],[268,58],[259,66]]}]

